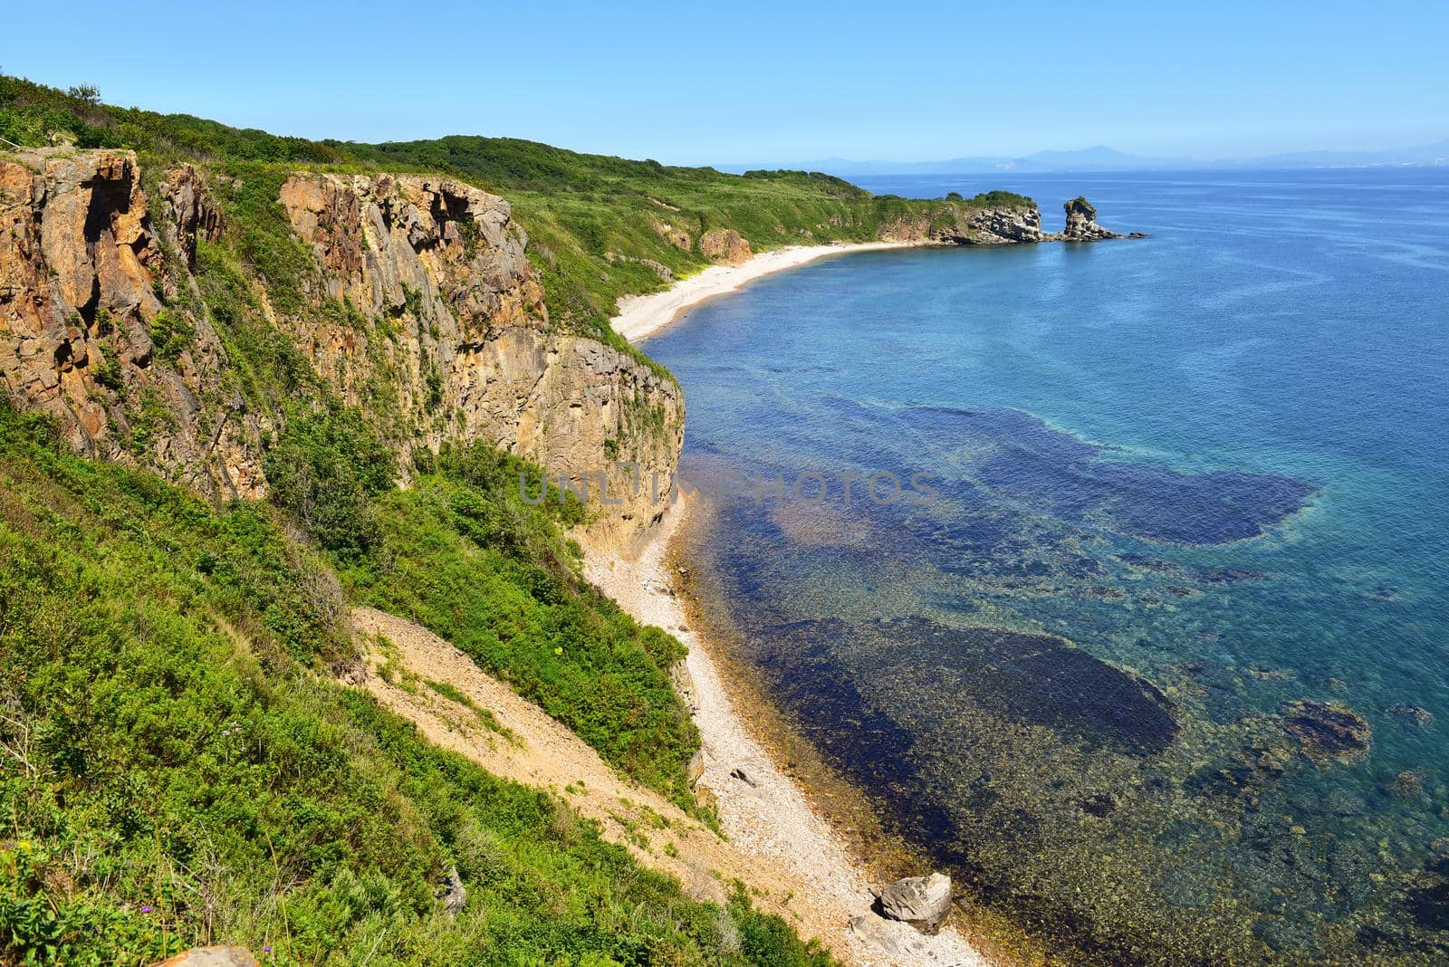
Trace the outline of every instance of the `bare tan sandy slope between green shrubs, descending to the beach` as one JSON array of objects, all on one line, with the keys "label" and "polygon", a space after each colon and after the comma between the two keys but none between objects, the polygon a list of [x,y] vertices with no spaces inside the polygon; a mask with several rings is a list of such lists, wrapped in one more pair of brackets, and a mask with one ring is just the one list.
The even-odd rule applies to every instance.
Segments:
[{"label": "bare tan sandy slope between green shrubs, descending to the beach", "polygon": [[[604,840],[674,877],[696,900],[726,902],[730,884],[742,883],[758,906],[803,937],[822,938],[852,964],[982,963],[951,931],[926,938],[869,913],[874,898],[848,873],[811,876],[758,841],[727,841],[653,790],[622,779],[578,737],[426,628],[371,608],[354,611],[352,621],[371,647],[365,664],[349,672],[351,685],[414,722],[440,748],[496,776],[564,795],[598,824]],[[872,921],[877,942],[849,929],[861,915]],[[880,938],[897,953],[888,954]]]}]

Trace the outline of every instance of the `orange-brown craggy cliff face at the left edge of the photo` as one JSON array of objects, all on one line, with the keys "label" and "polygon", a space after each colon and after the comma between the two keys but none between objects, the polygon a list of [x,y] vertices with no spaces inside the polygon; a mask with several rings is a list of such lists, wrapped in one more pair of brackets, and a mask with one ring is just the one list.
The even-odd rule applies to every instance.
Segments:
[{"label": "orange-brown craggy cliff face at the left edge of the photo", "polygon": [[0,378],[77,450],[258,497],[265,420],[226,389],[220,340],[167,272],[167,250],[193,262],[220,220],[190,166],[161,191],[152,220],[130,152],[0,161]]}]

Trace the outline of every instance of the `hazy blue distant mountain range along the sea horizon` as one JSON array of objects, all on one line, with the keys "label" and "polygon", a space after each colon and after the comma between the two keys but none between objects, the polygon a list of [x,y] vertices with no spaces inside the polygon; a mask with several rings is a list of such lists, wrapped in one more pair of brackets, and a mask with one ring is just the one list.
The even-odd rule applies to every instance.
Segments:
[{"label": "hazy blue distant mountain range along the sea horizon", "polygon": [[1449,140],[1391,151],[1298,151],[1261,158],[1223,158],[1204,161],[1185,155],[1152,158],[1129,155],[1106,145],[1081,151],[1039,151],[1022,158],[974,156],[945,161],[852,161],[826,158],[791,164],[719,165],[720,171],[743,172],[759,168],[794,168],[852,175],[955,175],[990,171],[1081,172],[1081,171],[1181,171],[1203,168],[1366,168],[1374,165],[1445,165],[1449,166]]}]

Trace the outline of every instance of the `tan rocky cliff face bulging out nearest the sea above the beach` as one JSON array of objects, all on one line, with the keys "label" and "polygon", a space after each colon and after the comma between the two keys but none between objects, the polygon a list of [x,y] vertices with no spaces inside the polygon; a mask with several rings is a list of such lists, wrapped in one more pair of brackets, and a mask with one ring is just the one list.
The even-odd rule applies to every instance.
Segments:
[{"label": "tan rocky cliff face bulging out nearest the sea above the beach", "polygon": [[[281,203],[352,313],[298,323],[343,397],[390,401],[400,450],[485,440],[575,481],[604,473],[623,501],[601,530],[627,534],[661,510],[684,442],[678,385],[617,349],[549,326],[527,237],[509,203],[456,181],[304,174]],[[387,405],[387,404],[384,404]]]}]

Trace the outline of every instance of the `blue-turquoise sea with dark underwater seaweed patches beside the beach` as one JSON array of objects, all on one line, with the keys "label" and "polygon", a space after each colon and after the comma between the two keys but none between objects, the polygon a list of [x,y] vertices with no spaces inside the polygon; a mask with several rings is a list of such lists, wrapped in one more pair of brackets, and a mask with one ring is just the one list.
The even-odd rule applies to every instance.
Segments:
[{"label": "blue-turquoise sea with dark underwater seaweed patches beside the beach", "polygon": [[865,187],[1151,237],[835,258],[649,342],[685,475],[935,488],[714,501],[738,657],[1074,961],[1449,957],[1449,172]]}]

